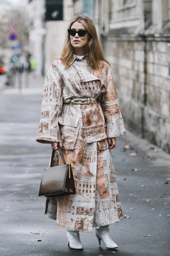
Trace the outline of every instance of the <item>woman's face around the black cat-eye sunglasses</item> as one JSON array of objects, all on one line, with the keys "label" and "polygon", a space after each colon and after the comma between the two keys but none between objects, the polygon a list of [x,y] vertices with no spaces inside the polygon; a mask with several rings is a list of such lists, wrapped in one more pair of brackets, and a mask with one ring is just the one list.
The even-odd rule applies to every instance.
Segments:
[{"label": "woman's face around the black cat-eye sunglasses", "polygon": [[[86,30],[85,26],[82,23],[78,22],[78,21],[75,21],[72,24],[71,29],[76,30],[76,31]],[[82,37],[79,37],[79,35],[77,33],[76,33],[75,36],[70,35],[71,44],[74,48],[77,48],[77,49],[85,47],[85,45],[88,42],[88,38],[89,38],[88,32]]]}]

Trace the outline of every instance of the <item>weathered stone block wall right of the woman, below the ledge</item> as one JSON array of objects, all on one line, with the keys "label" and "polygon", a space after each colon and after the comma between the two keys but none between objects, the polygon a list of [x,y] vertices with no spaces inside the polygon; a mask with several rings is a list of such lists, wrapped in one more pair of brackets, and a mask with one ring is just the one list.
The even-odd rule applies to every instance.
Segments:
[{"label": "weathered stone block wall right of the woman, below the ledge", "polygon": [[167,42],[147,40],[102,38],[126,125],[170,153]]}]

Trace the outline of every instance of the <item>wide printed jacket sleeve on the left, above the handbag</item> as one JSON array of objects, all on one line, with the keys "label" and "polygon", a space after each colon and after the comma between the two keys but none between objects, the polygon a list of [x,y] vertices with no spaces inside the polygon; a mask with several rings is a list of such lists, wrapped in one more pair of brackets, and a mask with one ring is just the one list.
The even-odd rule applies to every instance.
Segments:
[{"label": "wide printed jacket sleeve on the left, above the handbag", "polygon": [[63,79],[56,63],[48,70],[42,93],[40,124],[37,132],[37,142],[61,142],[58,116],[62,112]]}]

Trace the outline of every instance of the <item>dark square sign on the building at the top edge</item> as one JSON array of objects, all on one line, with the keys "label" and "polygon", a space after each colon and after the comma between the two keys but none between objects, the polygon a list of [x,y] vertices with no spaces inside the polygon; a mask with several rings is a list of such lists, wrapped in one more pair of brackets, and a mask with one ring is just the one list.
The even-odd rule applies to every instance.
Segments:
[{"label": "dark square sign on the building at the top edge", "polygon": [[63,0],[46,0],[45,20],[63,20]]}]

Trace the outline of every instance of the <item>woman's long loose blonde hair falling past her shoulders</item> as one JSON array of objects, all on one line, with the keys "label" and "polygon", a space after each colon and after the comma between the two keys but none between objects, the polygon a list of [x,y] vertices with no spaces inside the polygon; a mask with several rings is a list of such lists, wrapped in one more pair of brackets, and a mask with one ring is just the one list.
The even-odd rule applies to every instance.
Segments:
[{"label": "woman's long loose blonde hair falling past her shoulders", "polygon": [[[89,61],[90,63],[93,64],[93,69],[101,71],[99,61],[105,61],[109,65],[110,63],[106,61],[104,57],[102,45],[99,42],[99,38],[97,36],[94,23],[88,16],[77,15],[73,18],[73,20],[71,20],[71,23],[69,24],[68,29],[71,29],[71,26],[76,21],[82,23],[85,26],[85,29],[88,31],[89,40],[85,46],[85,53],[88,54]],[[70,63],[73,57],[74,57],[74,47],[71,45],[70,35],[67,34],[67,37],[65,39],[65,44],[61,53],[61,59],[63,61],[63,64],[65,65],[65,69],[70,67]]]}]

